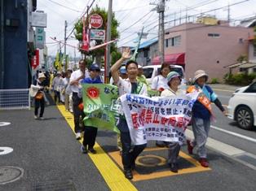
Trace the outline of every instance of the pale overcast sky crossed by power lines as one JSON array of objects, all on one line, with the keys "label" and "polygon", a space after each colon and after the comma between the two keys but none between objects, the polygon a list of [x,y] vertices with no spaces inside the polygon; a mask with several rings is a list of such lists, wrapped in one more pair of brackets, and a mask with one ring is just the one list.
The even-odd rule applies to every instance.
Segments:
[{"label": "pale overcast sky crossed by power lines", "polygon": [[[90,5],[91,2],[93,0],[38,0],[38,11],[47,13],[47,28],[45,28],[45,31],[49,55],[55,55],[59,47],[50,37],[64,40],[64,20],[68,22],[67,34],[69,34],[73,29],[73,24],[80,18],[86,6]],[[113,0],[113,11],[120,22],[118,31],[121,37],[117,43],[118,46],[135,46],[134,41],[138,36],[137,32],[143,26],[144,32],[148,33],[147,40],[157,37],[158,14],[157,11],[152,11],[156,6],[150,5],[150,3],[157,2],[159,1]],[[170,22],[166,24],[166,28],[174,26],[174,20],[176,20],[176,25],[179,22],[185,22],[185,19],[179,20],[179,18],[185,18],[186,15],[189,16],[187,20],[190,21],[196,20],[196,17],[202,13],[214,15],[219,20],[227,20],[228,3],[231,5],[230,18],[232,25],[235,21],[237,24],[244,18],[256,15],[256,0],[168,0],[166,1],[165,21]],[[239,4],[232,5],[234,3]],[[96,5],[108,10],[108,0],[95,0],[93,7]],[[135,24],[135,22],[137,23]],[[73,35],[68,39],[68,44],[77,46],[78,41],[72,39],[72,37]],[[64,51],[64,48],[62,50]],[[67,46],[67,54],[73,56],[74,50],[74,48]],[[78,50],[76,50],[76,53],[77,55],[79,54]]]}]

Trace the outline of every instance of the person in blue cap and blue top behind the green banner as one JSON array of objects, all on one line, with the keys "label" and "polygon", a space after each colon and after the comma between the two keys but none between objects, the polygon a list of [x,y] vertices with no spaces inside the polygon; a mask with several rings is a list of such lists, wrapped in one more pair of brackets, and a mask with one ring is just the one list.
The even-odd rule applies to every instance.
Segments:
[{"label": "person in blue cap and blue top behind the green banner", "polygon": [[[100,68],[97,64],[92,64],[89,69],[90,76],[81,81],[81,84],[102,84],[99,77]],[[93,148],[97,136],[98,128],[93,126],[85,126],[84,137],[82,141],[81,150],[83,154],[87,154],[88,150],[92,154],[96,154],[96,150]],[[88,147],[88,148],[87,148]]]}]

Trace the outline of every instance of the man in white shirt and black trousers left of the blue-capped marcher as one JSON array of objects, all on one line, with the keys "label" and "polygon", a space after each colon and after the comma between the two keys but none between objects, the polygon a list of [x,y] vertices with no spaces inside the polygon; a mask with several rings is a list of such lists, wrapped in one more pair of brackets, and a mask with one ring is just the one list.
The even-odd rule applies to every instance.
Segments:
[{"label": "man in white shirt and black trousers left of the blue-capped marcher", "polygon": [[78,105],[82,103],[82,98],[78,97],[78,85],[79,80],[85,78],[85,69],[86,63],[83,59],[79,61],[79,70],[72,72],[70,76],[70,88],[72,91],[72,101],[73,101],[73,117],[74,117],[74,124],[75,124],[75,132],[76,132],[76,139],[80,140],[82,135],[82,127],[79,126],[79,117],[83,116],[83,111],[78,108]]}]

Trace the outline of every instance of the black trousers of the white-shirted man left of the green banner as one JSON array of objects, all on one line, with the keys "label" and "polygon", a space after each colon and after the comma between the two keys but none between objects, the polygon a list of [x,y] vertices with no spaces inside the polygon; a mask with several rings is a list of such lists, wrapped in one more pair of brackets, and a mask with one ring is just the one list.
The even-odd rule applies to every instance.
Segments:
[{"label": "black trousers of the white-shirted man left of the green banner", "polygon": [[79,126],[79,117],[82,116],[83,118],[84,113],[78,108],[78,105],[82,103],[82,98],[79,98],[77,93],[73,92],[72,101],[73,101],[73,119],[75,124],[75,132],[82,132],[83,128]]}]

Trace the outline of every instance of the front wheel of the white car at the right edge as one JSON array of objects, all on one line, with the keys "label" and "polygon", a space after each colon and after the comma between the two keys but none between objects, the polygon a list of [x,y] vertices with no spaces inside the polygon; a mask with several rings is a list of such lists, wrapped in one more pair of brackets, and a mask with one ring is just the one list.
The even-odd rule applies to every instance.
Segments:
[{"label": "front wheel of the white car at the right edge", "polygon": [[251,130],[253,128],[254,118],[252,111],[246,106],[240,106],[236,110],[236,122],[239,127]]}]

